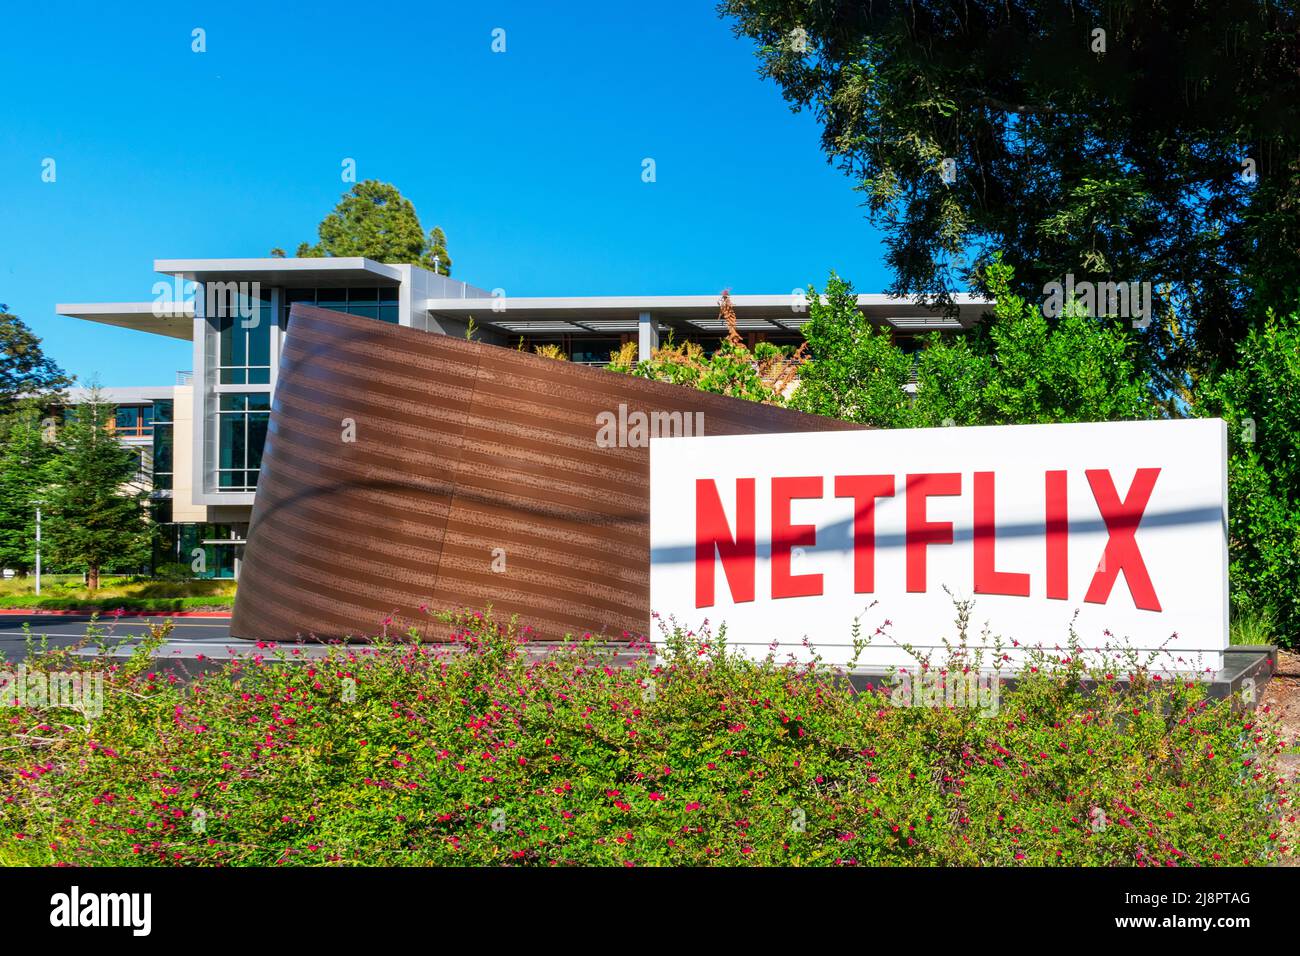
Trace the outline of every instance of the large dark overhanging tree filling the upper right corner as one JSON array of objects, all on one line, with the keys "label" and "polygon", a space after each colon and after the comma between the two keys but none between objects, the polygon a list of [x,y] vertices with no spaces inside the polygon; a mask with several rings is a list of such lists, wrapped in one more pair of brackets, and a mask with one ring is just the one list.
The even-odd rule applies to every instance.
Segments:
[{"label": "large dark overhanging tree filling the upper right corner", "polygon": [[1183,394],[1296,302],[1296,0],[719,10],[858,179],[896,294],[946,300],[993,248],[1035,300],[1067,273],[1149,281],[1148,349]]}]

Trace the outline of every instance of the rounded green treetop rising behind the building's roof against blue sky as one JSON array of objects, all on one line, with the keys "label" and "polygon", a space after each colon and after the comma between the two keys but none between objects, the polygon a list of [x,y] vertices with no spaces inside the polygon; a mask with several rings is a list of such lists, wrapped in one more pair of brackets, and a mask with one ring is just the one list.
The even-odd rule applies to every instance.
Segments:
[{"label": "rounded green treetop rising behind the building's roof against blue sky", "polygon": [[[298,256],[365,256],[451,274],[446,234],[434,226],[426,237],[415,206],[387,182],[365,179],[352,186],[321,220],[317,234],[320,242],[302,243]],[[277,251],[283,254],[282,250],[273,254]]]}]

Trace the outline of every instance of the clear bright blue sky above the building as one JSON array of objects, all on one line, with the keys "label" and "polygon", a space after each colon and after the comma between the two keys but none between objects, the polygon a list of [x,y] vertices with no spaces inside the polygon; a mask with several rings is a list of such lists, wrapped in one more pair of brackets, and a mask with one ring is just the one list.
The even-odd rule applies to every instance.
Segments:
[{"label": "clear bright blue sky above the building", "polygon": [[188,343],[55,304],[148,302],[153,259],[291,254],[348,157],[446,230],[456,278],[508,295],[786,293],[829,269],[881,291],[861,194],[755,68],[710,0],[8,3],[0,302],[82,380],[170,384]]}]

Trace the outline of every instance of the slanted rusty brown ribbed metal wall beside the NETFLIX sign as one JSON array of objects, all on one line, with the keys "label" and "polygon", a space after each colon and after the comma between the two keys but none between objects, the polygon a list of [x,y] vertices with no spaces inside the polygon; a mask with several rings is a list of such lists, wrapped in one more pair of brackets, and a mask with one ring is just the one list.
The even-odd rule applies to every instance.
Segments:
[{"label": "slanted rusty brown ribbed metal wall beside the NETFLIX sign", "polygon": [[650,453],[595,441],[620,403],[702,411],[705,434],[857,428],[295,304],[231,633],[364,637],[391,618],[437,640],[421,605],[489,604],[540,640],[645,633]]}]

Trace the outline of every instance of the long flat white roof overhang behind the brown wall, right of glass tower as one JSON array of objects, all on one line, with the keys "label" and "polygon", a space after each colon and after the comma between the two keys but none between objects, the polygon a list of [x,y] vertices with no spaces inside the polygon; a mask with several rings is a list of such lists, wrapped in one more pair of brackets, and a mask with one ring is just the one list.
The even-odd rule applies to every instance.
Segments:
[{"label": "long flat white roof overhang behind the brown wall, right of glass tower", "polygon": [[[954,295],[956,311],[919,306],[881,294],[858,295],[858,310],[872,323],[907,332],[967,329],[993,307],[987,299]],[[694,333],[724,333],[716,295],[584,295],[500,297],[491,299],[426,299],[425,310],[442,319],[467,321],[511,334],[578,332],[620,334],[636,332],[642,313],[663,328]],[[742,332],[798,332],[809,321],[803,303],[786,295],[732,295],[736,324]]]}]

